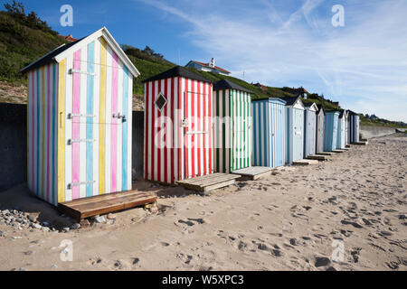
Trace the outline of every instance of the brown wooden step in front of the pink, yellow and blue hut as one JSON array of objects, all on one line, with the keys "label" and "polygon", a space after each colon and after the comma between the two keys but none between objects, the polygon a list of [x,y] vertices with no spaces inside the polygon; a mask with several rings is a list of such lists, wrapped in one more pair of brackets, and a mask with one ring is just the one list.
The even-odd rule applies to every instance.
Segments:
[{"label": "brown wooden step in front of the pink, yellow and blue hut", "polygon": [[58,210],[72,219],[89,218],[156,202],[156,194],[142,191],[118,191],[99,196],[60,202]]}]

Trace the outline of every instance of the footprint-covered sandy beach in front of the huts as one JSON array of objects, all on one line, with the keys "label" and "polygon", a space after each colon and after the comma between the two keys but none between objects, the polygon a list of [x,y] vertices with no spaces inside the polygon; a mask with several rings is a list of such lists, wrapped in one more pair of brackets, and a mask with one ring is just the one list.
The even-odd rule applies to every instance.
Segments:
[{"label": "footprint-covered sandy beach in front of the huts", "polygon": [[[407,137],[392,135],[209,197],[137,182],[160,197],[158,212],[121,211],[68,232],[0,221],[0,269],[406,270],[406,172]],[[70,225],[24,185],[0,193],[0,209],[14,208]],[[61,259],[63,240],[71,261]]]}]

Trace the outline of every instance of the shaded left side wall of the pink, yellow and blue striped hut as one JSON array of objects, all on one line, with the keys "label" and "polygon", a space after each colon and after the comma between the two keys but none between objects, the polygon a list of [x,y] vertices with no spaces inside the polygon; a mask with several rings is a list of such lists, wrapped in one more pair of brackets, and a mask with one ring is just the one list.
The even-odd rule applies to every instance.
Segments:
[{"label": "shaded left side wall of the pink, yellow and blue striped hut", "polygon": [[27,183],[30,191],[58,202],[58,64],[28,73]]}]

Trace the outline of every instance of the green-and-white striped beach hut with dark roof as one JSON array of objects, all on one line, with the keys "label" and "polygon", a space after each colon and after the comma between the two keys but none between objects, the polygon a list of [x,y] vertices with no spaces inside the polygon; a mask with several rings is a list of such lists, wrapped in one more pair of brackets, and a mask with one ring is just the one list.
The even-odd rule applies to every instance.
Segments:
[{"label": "green-and-white striped beach hut with dark roof", "polygon": [[213,85],[213,162],[215,172],[251,166],[251,90],[230,80]]}]

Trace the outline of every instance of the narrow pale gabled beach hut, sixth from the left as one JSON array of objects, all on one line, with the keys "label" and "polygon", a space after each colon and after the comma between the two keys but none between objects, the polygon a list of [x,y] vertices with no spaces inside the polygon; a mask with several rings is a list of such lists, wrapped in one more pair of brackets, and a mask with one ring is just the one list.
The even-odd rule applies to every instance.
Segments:
[{"label": "narrow pale gabled beach hut, sixth from the left", "polygon": [[304,157],[316,154],[317,147],[317,105],[312,102],[304,110]]}]

